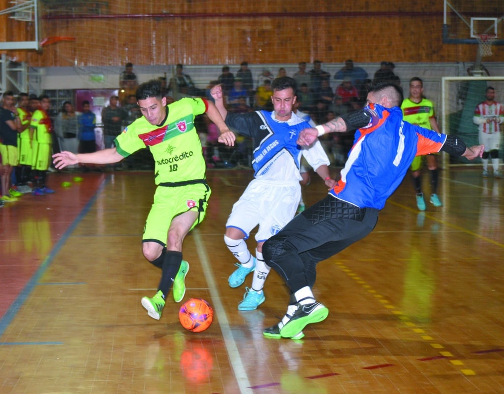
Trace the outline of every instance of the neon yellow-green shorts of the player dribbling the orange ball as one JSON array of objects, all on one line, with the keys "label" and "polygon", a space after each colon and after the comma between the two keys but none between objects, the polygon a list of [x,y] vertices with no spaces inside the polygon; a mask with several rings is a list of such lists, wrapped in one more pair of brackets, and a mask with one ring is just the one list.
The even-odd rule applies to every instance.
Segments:
[{"label": "neon yellow-green shorts of the player dribbling the orange ball", "polygon": [[154,203],[145,222],[142,242],[157,242],[166,246],[171,220],[188,210],[199,212],[190,230],[203,221],[210,198],[210,187],[205,183],[185,186],[158,186]]}]

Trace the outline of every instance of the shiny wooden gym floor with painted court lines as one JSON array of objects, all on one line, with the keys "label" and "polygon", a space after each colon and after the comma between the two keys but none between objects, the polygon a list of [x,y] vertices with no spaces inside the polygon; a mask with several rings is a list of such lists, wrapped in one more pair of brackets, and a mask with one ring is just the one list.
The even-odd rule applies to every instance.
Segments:
[{"label": "shiny wooden gym floor with painted court lines", "polygon": [[286,310],[275,272],[256,311],[237,310],[251,277],[227,284],[224,225],[250,171],[207,173],[207,217],[184,243],[184,299],[214,308],[202,333],[171,300],[159,321],[140,304],[159,280],[141,253],[152,173],[51,174],[55,194],[0,210],[0,394],[502,393],[504,180],[480,174],[443,171],[444,206],[424,213],[405,180],[368,237],[319,264],[330,314],[301,341],[262,335]]}]

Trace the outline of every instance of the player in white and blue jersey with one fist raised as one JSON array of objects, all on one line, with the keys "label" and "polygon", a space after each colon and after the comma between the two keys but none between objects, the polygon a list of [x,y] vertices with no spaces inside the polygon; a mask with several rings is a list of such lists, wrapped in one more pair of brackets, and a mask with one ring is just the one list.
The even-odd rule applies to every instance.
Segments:
[{"label": "player in white and blue jersey with one fist raised", "polygon": [[[245,276],[255,270],[251,289],[246,289],[244,299],[238,305],[239,310],[256,309],[265,300],[263,286],[270,267],[264,263],[262,245],[296,213],[301,194],[301,156],[317,171],[328,188],[335,183],[329,176],[329,159],[321,144],[317,142],[309,148],[301,148],[296,143],[299,132],[310,125],[292,112],[296,101],[295,80],[277,78],[272,83],[272,90],[272,112],[260,110],[246,114],[227,112],[221,86],[211,91],[226,125],[253,140],[255,179],[233,205],[224,236],[226,246],[238,260],[238,269],[229,276],[229,286],[240,286]],[[245,240],[258,225],[256,257],[253,257]]]}]

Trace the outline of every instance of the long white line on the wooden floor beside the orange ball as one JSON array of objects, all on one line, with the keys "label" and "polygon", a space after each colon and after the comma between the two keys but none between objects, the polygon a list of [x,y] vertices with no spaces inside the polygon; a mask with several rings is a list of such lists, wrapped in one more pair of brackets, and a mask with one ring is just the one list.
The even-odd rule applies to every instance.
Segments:
[{"label": "long white line on the wooden floor beside the orange ball", "polygon": [[226,351],[229,356],[231,367],[233,367],[234,376],[238,381],[238,387],[242,394],[253,394],[254,391],[249,388],[250,382],[248,381],[248,376],[245,372],[245,368],[243,367],[240,353],[238,352],[238,348],[236,347],[236,343],[234,342],[233,333],[231,331],[231,327],[229,326],[226,311],[224,310],[219,291],[217,290],[214,273],[210,266],[210,260],[208,259],[205,244],[201,239],[198,229],[193,230],[192,234],[196,243],[198,256],[200,257],[203,273],[205,275],[205,278],[207,279],[208,287],[210,288],[210,296],[212,297],[213,304],[212,306],[215,313],[219,316],[219,325],[222,331],[222,337],[224,338],[224,344],[226,345]]}]

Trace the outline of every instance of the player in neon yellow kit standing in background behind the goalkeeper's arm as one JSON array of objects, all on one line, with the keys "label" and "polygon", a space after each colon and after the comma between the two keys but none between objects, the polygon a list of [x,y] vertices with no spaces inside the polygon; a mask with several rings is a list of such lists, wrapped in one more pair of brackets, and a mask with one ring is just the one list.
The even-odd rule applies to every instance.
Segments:
[{"label": "player in neon yellow kit standing in background behind the goalkeeper's arm", "polygon": [[[410,95],[406,98],[401,109],[403,110],[403,119],[413,125],[418,125],[426,129],[434,130],[440,133],[437,126],[436,118],[434,117],[434,104],[432,101],[427,100],[423,96],[423,81],[418,77],[410,79],[409,83]],[[411,172],[413,175],[413,187],[416,192],[416,204],[421,211],[425,210],[425,200],[421,188],[420,166],[422,164],[422,157],[416,156],[411,163]],[[429,154],[425,156],[427,161],[427,168],[430,174],[430,202],[434,206],[442,206],[437,196],[437,183],[438,183],[438,170],[437,170],[437,156]]]}]

